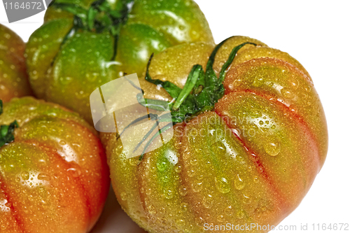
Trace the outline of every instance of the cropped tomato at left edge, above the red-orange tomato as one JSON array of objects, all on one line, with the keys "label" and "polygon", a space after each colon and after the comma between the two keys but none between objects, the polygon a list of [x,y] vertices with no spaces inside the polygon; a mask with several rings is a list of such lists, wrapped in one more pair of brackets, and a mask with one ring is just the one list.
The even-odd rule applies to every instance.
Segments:
[{"label": "cropped tomato at left edge, above the red-orange tomato", "polygon": [[25,43],[0,24],[0,99],[31,95],[25,65]]}]

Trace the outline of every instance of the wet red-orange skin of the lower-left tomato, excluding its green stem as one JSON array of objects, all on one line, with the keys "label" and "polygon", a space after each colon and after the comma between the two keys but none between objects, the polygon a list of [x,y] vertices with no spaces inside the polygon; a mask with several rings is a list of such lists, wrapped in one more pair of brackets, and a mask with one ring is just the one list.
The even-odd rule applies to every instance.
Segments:
[{"label": "wet red-orange skin of the lower-left tomato, excluding its green stem", "polygon": [[109,190],[97,132],[76,113],[31,97],[6,103],[0,125],[17,120],[0,148],[1,232],[89,232]]}]

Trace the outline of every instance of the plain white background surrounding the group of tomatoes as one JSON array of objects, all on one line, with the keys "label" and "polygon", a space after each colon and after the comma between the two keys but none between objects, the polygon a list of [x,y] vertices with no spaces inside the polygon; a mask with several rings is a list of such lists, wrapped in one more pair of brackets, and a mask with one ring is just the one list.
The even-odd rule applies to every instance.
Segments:
[{"label": "plain white background surrounding the group of tomatoes", "polygon": [[[321,97],[328,122],[328,157],[302,204],[280,225],[297,225],[297,231],[293,232],[339,232],[313,231],[313,223],[350,225],[350,149],[347,147],[350,146],[350,1],[197,0],[197,3],[209,21],[216,43],[229,36],[244,35],[288,52],[309,71]],[[8,24],[0,3],[0,23],[25,41],[42,22],[43,13],[39,13]],[[112,227],[114,230],[94,232],[137,232],[120,210],[107,219],[119,223],[120,230]],[[106,221],[101,225],[106,225]],[[308,224],[308,230],[300,231],[301,224]]]}]

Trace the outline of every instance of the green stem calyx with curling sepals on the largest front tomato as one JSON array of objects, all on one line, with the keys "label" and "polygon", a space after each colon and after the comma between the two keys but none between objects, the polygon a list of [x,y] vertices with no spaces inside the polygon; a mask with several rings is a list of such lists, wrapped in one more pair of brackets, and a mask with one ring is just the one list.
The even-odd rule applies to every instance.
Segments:
[{"label": "green stem calyx with curling sepals on the largest front tomato", "polygon": [[[128,127],[137,124],[137,122],[140,122],[146,118],[155,120],[153,127],[151,127],[148,133],[134,148],[134,151],[136,151],[141,146],[141,144],[144,143],[144,141],[146,141],[149,136],[151,136],[152,132],[155,129],[158,129],[158,131],[151,137],[151,139],[148,140],[144,146],[144,150],[139,157],[140,162],[146,153],[146,149],[148,146],[150,146],[152,141],[157,136],[160,136],[163,132],[166,132],[168,129],[173,127],[173,125],[176,125],[176,123],[181,123],[189,120],[189,118],[193,118],[195,115],[199,115],[202,112],[213,110],[218,100],[223,97],[225,94],[223,81],[225,80],[228,66],[232,64],[238,50],[246,44],[256,46],[255,43],[246,42],[241,43],[240,45],[237,45],[235,48],[233,48],[228,57],[228,60],[225,62],[225,64],[223,64],[218,77],[216,76],[216,73],[213,69],[216,53],[218,52],[219,48],[221,48],[221,46],[225,44],[226,41],[228,41],[228,39],[216,45],[216,48],[214,48],[207,62],[206,71],[204,71],[203,67],[200,64],[193,66],[193,69],[190,71],[183,89],[169,81],[162,81],[159,79],[151,78],[149,74],[149,67],[151,65],[153,55],[148,60],[145,79],[150,83],[163,87],[173,98],[173,100],[169,102],[156,99],[143,99],[143,90],[141,90],[142,92],[137,95],[139,104],[145,106],[146,108],[152,108],[157,111],[167,111],[168,109],[170,110],[170,113],[167,111],[167,113],[159,116],[157,114],[149,113],[148,115],[137,118],[137,120],[134,120],[130,123],[130,125],[127,125],[127,127],[125,127],[125,129],[127,129]],[[169,124],[165,125],[164,127],[160,127],[159,122],[169,122]],[[123,132],[125,132],[125,129]],[[117,134],[117,140],[123,134],[123,132],[120,135]]]}]

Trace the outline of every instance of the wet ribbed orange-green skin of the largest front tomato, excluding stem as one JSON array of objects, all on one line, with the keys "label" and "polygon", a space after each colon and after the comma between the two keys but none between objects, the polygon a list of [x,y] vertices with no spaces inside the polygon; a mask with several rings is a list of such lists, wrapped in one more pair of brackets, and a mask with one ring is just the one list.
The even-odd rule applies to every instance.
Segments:
[{"label": "wet ribbed orange-green skin of the largest front tomato, excluding stem", "polygon": [[[102,134],[118,201],[148,232],[205,232],[205,223],[278,225],[320,171],[328,145],[325,115],[297,60],[236,36],[218,50],[214,70],[246,41],[259,46],[239,50],[213,111],[174,126],[172,140],[146,153],[139,166],[115,135]],[[195,64],[205,67],[213,48],[169,48],[155,55],[150,74],[183,87],[185,74]],[[171,100],[164,90],[140,83],[146,98]]]}]

